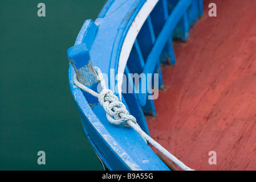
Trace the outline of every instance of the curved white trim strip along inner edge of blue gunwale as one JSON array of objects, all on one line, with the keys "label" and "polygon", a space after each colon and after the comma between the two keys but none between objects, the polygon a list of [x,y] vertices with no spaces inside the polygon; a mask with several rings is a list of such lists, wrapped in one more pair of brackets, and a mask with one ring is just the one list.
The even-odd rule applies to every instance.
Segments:
[{"label": "curved white trim strip along inner edge of blue gunwale", "polygon": [[127,64],[127,60],[129,58],[130,52],[132,50],[133,43],[135,42],[135,39],[137,38],[137,35],[139,34],[139,31],[143,26],[145,20],[147,20],[149,14],[154,9],[157,2],[159,2],[159,0],[147,0],[144,3],[143,7],[141,7],[139,13],[135,17],[135,20],[133,20],[132,25],[127,32],[127,35],[125,36],[124,43],[121,48],[118,71],[117,71],[117,88],[118,88],[120,100],[122,99],[121,91],[122,91],[124,69]]}]

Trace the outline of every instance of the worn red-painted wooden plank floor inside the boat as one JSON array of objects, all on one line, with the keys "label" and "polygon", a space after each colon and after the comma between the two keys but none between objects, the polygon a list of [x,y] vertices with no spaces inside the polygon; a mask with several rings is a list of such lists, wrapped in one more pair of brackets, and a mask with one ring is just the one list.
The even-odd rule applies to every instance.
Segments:
[{"label": "worn red-painted wooden plank floor inside the boat", "polygon": [[[217,17],[208,16],[211,2]],[[204,6],[189,41],[174,43],[177,64],[162,68],[166,89],[149,131],[193,169],[256,170],[256,1]]]}]

